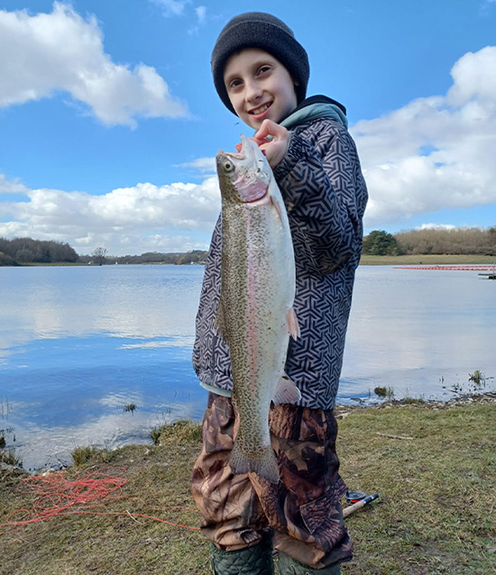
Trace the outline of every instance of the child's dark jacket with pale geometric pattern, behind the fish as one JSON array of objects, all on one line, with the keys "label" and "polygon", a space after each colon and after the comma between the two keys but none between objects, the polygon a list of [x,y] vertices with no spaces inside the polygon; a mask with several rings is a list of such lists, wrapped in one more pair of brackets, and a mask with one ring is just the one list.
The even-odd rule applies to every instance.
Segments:
[{"label": "child's dark jacket with pale geometric pattern, behind the fish", "polygon": [[[288,210],[296,261],[295,312],[301,335],[290,338],[286,372],[300,405],[332,409],[360,260],[367,188],[344,108],[309,98],[282,125],[289,149],[274,176]],[[201,385],[218,395],[233,387],[229,349],[214,322],[221,286],[220,218],[210,244],[197,312],[193,366]]]}]

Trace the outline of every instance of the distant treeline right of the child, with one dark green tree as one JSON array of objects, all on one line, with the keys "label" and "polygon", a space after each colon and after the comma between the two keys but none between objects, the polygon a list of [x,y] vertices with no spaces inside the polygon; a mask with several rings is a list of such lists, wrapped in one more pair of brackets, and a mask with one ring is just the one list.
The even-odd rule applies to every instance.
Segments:
[{"label": "distant treeline right of the child, with one dark green tree", "polygon": [[363,238],[363,253],[375,256],[470,254],[496,256],[496,226],[409,230],[391,233],[374,230]]}]

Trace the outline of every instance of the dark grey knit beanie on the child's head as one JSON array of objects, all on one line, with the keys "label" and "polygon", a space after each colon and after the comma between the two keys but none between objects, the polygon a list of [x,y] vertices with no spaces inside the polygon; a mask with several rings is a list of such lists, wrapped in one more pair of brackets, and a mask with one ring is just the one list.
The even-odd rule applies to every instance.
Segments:
[{"label": "dark grey knit beanie on the child's head", "polygon": [[244,48],[259,48],[277,58],[299,84],[295,87],[298,104],[305,99],[310,75],[307,52],[279,18],[263,12],[247,12],[225,24],[212,52],[214,84],[228,110],[236,114],[225,89],[225,64],[230,56]]}]

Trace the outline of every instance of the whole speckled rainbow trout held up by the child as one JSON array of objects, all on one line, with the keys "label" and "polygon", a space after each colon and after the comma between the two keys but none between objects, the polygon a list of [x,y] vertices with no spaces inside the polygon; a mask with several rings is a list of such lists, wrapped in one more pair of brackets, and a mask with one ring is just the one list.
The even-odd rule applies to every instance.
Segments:
[{"label": "whole speckled rainbow trout held up by the child", "polygon": [[237,431],[229,464],[277,483],[271,447],[271,402],[297,403],[285,374],[289,336],[299,337],[293,309],[296,272],[289,220],[269,162],[251,139],[218,151],[222,263],[216,330],[228,344]]}]

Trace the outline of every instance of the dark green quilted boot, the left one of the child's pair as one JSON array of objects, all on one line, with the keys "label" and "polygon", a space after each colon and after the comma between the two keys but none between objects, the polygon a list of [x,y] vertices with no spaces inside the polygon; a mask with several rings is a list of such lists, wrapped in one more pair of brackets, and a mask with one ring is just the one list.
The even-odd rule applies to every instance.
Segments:
[{"label": "dark green quilted boot, the left one of the child's pair", "polygon": [[274,575],[271,539],[239,551],[221,551],[210,544],[214,575]]}]

